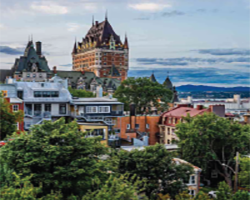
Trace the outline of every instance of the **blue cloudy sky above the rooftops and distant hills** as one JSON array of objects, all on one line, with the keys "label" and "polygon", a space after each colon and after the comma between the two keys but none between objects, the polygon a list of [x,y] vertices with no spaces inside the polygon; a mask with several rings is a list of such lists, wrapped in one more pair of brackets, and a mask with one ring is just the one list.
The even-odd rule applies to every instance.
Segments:
[{"label": "blue cloudy sky above the rooftops and distant hills", "polygon": [[130,44],[130,76],[175,85],[250,86],[250,0],[1,0],[0,68],[33,34],[49,66],[71,69],[75,37],[109,21]]}]

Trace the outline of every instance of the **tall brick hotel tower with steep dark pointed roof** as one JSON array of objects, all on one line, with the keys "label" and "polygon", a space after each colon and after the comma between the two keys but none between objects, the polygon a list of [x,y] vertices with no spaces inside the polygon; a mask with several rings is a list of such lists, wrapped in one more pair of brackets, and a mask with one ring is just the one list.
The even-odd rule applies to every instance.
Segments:
[{"label": "tall brick hotel tower with steep dark pointed roof", "polygon": [[[122,42],[110,25],[107,15],[103,22],[93,20],[92,27],[82,41],[75,42],[72,59],[73,71],[90,71],[98,77],[123,81],[129,70],[127,35]],[[114,70],[118,72],[115,77],[112,73]]]}]

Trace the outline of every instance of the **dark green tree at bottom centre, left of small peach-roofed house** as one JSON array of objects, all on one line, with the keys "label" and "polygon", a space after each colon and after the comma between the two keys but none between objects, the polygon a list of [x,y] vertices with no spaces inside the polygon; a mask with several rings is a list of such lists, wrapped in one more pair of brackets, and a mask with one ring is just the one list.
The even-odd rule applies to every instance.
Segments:
[{"label": "dark green tree at bottom centre, left of small peach-roofed house", "polygon": [[186,188],[193,169],[190,165],[176,164],[164,145],[145,147],[144,150],[118,153],[118,172],[136,174],[146,179],[146,194],[156,198],[158,193],[177,195]]}]

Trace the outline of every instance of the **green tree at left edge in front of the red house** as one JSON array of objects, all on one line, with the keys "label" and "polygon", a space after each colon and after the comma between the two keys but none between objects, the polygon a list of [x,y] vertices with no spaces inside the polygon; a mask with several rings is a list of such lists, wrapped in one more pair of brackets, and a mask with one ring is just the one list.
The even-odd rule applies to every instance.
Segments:
[{"label": "green tree at left edge in front of the red house", "polygon": [[23,112],[12,112],[11,104],[0,94],[0,140],[16,131],[16,124],[23,121]]}]

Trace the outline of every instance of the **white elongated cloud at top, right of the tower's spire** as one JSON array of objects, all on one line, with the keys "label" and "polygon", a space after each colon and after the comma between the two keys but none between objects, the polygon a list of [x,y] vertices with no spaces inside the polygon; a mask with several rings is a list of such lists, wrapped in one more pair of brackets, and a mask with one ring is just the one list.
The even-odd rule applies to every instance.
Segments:
[{"label": "white elongated cloud at top, right of the tower's spire", "polygon": [[140,11],[159,11],[164,8],[171,8],[170,4],[158,4],[158,3],[139,3],[139,4],[130,4],[130,8]]}]

